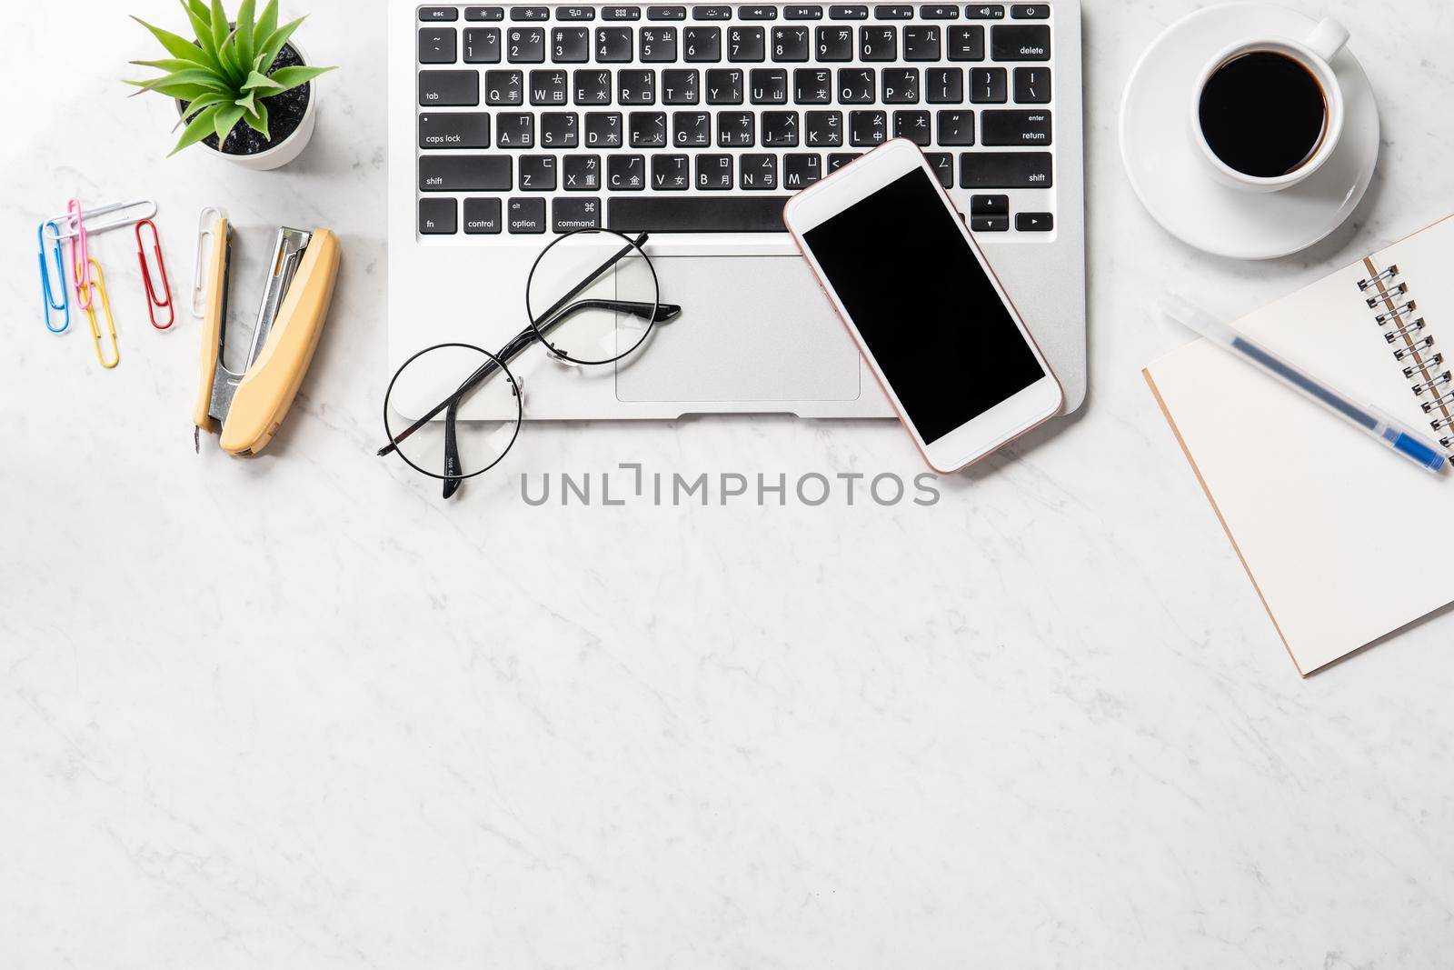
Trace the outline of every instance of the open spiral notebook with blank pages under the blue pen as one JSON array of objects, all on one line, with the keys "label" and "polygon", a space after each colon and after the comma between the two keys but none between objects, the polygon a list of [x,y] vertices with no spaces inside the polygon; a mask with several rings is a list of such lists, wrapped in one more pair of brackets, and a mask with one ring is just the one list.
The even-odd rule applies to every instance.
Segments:
[{"label": "open spiral notebook with blank pages under the blue pen", "polygon": [[[1454,455],[1454,217],[1234,326]],[[1143,374],[1300,673],[1454,601],[1454,474],[1205,340]]]}]

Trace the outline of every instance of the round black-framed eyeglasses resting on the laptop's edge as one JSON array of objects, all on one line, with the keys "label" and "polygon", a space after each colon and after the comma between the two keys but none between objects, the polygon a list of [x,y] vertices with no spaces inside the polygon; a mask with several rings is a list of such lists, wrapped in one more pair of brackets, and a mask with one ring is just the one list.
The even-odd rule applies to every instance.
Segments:
[{"label": "round black-framed eyeglasses resting on the laptop's edge", "polygon": [[499,352],[439,343],[404,361],[384,396],[390,444],[378,454],[439,478],[446,499],[497,465],[525,416],[523,384],[509,368],[522,350],[539,342],[564,364],[615,364],[680,314],[660,301],[647,239],[579,230],[550,243],[525,281],[529,326]]}]

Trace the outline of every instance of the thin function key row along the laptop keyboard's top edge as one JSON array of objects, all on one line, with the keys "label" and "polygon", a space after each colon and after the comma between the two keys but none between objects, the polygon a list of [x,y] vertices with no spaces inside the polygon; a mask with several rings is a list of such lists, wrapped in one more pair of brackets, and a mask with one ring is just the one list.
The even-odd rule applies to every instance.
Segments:
[{"label": "thin function key row along the laptop keyboard's top edge", "polygon": [[[513,22],[529,23],[548,20],[551,17],[551,10],[553,7],[521,6],[509,7],[509,15]],[[647,20],[685,20],[688,16],[688,9],[685,6],[558,6],[554,7],[554,10],[557,20],[595,20],[598,13],[602,20],[640,20],[643,16]],[[505,12],[506,7],[465,7],[464,19],[467,22],[505,20]],[[823,7],[743,6],[736,7],[734,10],[728,6],[694,6],[691,9],[694,20],[776,20],[779,15],[784,20],[822,20]],[[830,20],[867,20],[868,16],[869,7],[867,4],[835,4],[827,7],[827,19]],[[912,20],[915,17],[915,7],[912,4],[875,4],[872,7],[872,16],[878,20]],[[1015,3],[1009,7],[1009,16],[1013,20],[1047,20],[1050,17],[1050,4]],[[960,7],[954,4],[920,6],[919,17],[923,20],[958,20]],[[964,7],[964,19],[1003,20],[1005,6],[997,3],[970,4]],[[459,7],[419,7],[419,20],[422,23],[454,23],[459,20]]]}]

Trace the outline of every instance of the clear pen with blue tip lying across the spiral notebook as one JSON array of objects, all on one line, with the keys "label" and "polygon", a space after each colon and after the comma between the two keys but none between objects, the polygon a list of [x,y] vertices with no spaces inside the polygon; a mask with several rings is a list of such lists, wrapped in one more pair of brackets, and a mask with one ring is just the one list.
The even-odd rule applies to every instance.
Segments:
[{"label": "clear pen with blue tip lying across the spiral notebook", "polygon": [[1309,400],[1317,401],[1345,419],[1349,425],[1368,432],[1373,438],[1383,442],[1383,445],[1393,448],[1421,468],[1434,474],[1444,471],[1444,465],[1447,464],[1444,452],[1434,442],[1416,430],[1406,428],[1396,417],[1390,417],[1371,404],[1359,404],[1342,391],[1330,387],[1326,381],[1313,377],[1278,353],[1268,350],[1256,340],[1237,333],[1201,307],[1181,297],[1168,295],[1163,310],[1176,323],[1200,333],[1217,346],[1232,350],[1265,374],[1281,380]]}]

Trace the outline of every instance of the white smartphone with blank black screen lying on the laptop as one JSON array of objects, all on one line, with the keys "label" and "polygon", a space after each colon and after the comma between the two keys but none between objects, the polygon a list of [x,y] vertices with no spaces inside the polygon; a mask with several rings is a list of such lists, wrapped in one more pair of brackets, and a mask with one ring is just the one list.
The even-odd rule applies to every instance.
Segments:
[{"label": "white smartphone with blank black screen lying on the laptop", "polygon": [[979,461],[1064,406],[912,141],[887,141],[798,192],[784,221],[935,471]]}]

